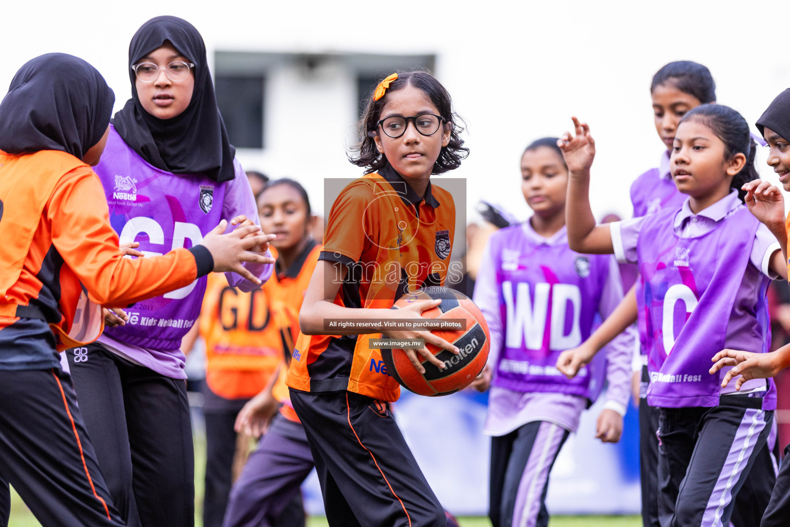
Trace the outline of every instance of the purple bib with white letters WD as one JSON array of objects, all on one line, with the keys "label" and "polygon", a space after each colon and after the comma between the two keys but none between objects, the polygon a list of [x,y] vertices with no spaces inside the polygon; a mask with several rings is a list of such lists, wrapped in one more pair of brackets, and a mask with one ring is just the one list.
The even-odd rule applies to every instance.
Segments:
[{"label": "purple bib with white letters WD", "polygon": [[570,380],[555,364],[560,352],[589,337],[611,257],[538,244],[521,229],[504,228],[490,239],[504,326],[493,384],[595,400],[606,375],[604,354]]}]

